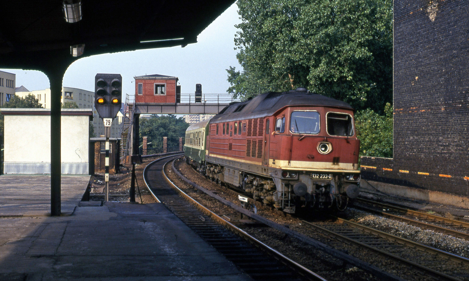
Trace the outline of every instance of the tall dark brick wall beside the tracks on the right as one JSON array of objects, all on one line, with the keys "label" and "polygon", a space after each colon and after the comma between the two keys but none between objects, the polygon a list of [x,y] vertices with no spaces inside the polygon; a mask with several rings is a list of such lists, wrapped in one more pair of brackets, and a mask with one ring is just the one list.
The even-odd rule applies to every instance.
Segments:
[{"label": "tall dark brick wall beside the tracks on the right", "polygon": [[469,195],[468,51],[469,1],[394,0],[394,158],[364,178]]}]

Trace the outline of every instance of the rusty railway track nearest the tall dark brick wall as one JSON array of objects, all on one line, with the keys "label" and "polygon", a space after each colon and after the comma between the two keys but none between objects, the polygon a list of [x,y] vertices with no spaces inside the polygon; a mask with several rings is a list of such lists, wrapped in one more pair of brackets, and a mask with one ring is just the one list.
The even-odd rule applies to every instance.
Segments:
[{"label": "rusty railway track nearest the tall dark brick wall", "polygon": [[469,223],[436,214],[427,214],[366,199],[358,199],[354,207],[381,216],[415,225],[424,229],[445,233],[469,241]]}]

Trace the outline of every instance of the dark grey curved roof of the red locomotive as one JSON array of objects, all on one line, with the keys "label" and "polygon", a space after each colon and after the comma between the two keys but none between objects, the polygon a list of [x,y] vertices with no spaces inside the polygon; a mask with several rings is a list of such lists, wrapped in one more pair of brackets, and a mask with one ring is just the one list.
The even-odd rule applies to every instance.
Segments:
[{"label": "dark grey curved roof of the red locomotive", "polygon": [[267,92],[251,100],[228,105],[210,120],[210,124],[270,116],[281,108],[292,105],[327,106],[354,110],[345,102],[312,94],[306,90]]}]

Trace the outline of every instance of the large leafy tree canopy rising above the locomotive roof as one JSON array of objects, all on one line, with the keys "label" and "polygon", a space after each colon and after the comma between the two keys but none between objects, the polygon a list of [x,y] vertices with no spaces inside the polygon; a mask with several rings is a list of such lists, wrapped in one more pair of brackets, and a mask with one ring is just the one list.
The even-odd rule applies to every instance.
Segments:
[{"label": "large leafy tree canopy rising above the locomotive roof", "polygon": [[382,113],[392,103],[392,0],[238,0],[235,35],[243,70],[227,92],[307,87]]}]

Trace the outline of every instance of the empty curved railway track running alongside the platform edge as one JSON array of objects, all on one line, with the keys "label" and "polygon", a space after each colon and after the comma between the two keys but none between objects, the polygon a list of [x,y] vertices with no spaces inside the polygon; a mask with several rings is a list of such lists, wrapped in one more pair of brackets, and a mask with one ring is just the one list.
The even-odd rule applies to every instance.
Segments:
[{"label": "empty curved railway track running alongside the platform edge", "polygon": [[[178,156],[149,164],[144,170],[144,179],[153,196],[189,228],[254,280],[325,281],[318,274],[251,237],[182,192],[164,172],[164,165]],[[188,204],[188,200],[195,206]]]}]

